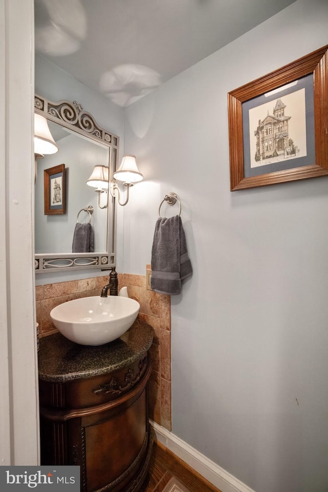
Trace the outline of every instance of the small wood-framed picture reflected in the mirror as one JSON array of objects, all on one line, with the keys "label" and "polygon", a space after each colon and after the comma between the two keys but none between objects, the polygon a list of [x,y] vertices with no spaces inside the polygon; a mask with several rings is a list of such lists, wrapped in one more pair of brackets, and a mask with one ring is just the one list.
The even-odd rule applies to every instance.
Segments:
[{"label": "small wood-framed picture reflected in the mirror", "polygon": [[66,213],[65,164],[44,171],[45,215]]}]

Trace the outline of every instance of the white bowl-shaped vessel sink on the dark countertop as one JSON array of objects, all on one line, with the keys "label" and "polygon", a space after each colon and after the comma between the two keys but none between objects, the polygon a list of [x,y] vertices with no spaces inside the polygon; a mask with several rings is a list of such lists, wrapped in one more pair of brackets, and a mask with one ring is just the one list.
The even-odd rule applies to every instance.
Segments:
[{"label": "white bowl-shaped vessel sink on the dark countertop", "polygon": [[82,297],[59,304],[50,312],[57,330],[80,345],[103,345],[123,335],[139,312],[129,297]]}]

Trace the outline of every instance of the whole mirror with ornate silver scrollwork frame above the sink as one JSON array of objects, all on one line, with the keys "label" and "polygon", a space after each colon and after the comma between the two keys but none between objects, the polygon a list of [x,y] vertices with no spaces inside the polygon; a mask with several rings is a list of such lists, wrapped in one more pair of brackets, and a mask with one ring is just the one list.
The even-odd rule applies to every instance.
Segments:
[{"label": "whole mirror with ornate silver scrollwork frame above the sink", "polygon": [[[36,95],[34,107],[47,119],[59,149],[36,159],[35,272],[114,264],[115,199],[108,193],[108,182],[102,187],[106,191],[95,193],[86,181],[96,165],[104,166],[107,179],[112,178],[119,138],[100,128],[76,101],[53,103]],[[59,199],[54,196],[57,190]],[[92,232],[89,248],[76,240],[78,227]]]}]

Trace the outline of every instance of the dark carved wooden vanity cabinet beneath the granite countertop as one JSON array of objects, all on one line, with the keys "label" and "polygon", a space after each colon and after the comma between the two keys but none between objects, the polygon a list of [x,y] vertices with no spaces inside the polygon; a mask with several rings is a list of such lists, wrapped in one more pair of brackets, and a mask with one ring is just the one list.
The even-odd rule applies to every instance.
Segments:
[{"label": "dark carved wooden vanity cabinet beneath the granite countertop", "polygon": [[81,491],[135,492],[147,474],[148,351],[106,374],[39,380],[42,465],[79,465]]}]

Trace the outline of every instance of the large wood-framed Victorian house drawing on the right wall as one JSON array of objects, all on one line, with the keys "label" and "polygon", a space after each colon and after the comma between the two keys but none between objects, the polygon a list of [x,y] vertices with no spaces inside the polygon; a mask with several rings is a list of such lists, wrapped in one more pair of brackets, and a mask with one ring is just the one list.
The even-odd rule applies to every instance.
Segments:
[{"label": "large wood-framed Victorian house drawing on the right wall", "polygon": [[230,189],[328,175],[328,46],[228,94]]}]

